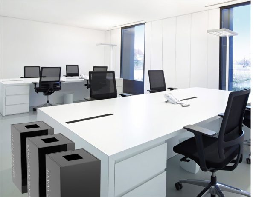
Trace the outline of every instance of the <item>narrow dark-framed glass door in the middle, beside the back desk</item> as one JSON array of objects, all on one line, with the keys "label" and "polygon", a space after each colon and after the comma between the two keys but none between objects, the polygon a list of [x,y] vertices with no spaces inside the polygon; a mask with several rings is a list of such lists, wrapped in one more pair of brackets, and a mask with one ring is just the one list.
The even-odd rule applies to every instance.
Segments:
[{"label": "narrow dark-framed glass door in the middle, beside the back desk", "polygon": [[121,77],[123,92],[144,93],[145,23],[122,28]]}]

